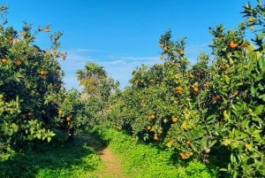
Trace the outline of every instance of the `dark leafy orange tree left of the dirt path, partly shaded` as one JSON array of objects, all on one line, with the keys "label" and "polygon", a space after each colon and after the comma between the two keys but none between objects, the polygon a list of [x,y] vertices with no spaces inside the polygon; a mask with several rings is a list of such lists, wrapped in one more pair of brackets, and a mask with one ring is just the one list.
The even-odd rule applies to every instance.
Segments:
[{"label": "dark leafy orange tree left of the dirt path, partly shaded", "polygon": [[[4,12],[7,6],[0,6]],[[58,59],[65,52],[57,51],[62,32],[50,35],[50,28],[25,23],[21,31],[7,27],[5,19],[0,26],[0,143],[18,147],[32,140],[47,140],[58,130],[70,133],[75,112],[67,111],[63,85],[63,71]],[[35,42],[38,33],[47,33],[51,47],[42,50]],[[74,100],[73,100],[74,101]],[[65,103],[65,104],[64,104]],[[72,105],[77,104],[72,103]],[[69,114],[69,115],[66,115]],[[72,115],[71,115],[72,114]],[[3,148],[2,147],[2,148]]]}]

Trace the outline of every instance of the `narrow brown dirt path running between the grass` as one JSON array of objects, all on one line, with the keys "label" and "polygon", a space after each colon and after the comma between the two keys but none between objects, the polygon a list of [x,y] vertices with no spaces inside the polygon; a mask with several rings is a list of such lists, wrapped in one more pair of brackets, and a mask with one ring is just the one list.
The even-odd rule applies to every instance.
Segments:
[{"label": "narrow brown dirt path running between the grass", "polygon": [[115,157],[113,152],[107,146],[104,146],[99,140],[92,135],[80,135],[91,145],[100,155],[105,168],[102,170],[98,178],[124,178],[123,169],[119,159]]}]

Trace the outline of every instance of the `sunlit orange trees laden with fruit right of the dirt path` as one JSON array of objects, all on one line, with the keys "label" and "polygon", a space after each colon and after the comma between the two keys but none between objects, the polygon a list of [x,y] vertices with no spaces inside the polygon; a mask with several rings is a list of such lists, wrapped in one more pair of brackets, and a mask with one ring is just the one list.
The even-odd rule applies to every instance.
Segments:
[{"label": "sunlit orange trees laden with fruit right of the dirt path", "polygon": [[264,176],[264,4],[246,4],[243,13],[236,30],[210,28],[213,61],[201,53],[189,66],[185,38],[162,35],[165,62],[137,67],[132,86],[113,100],[107,115],[117,129],[164,143],[180,159],[221,166],[222,176]]}]

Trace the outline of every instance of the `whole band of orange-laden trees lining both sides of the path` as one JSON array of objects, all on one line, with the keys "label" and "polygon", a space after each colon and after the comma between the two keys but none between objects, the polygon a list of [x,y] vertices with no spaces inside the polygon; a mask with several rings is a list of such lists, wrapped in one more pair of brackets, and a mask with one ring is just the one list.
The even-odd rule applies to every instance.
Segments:
[{"label": "whole band of orange-laden trees lining both sides of the path", "polygon": [[[167,31],[159,40],[164,62],[136,67],[123,91],[102,66],[88,62],[77,71],[79,92],[64,89],[63,32],[50,35],[49,26],[33,32],[27,23],[20,31],[7,27],[7,6],[0,6],[0,151],[37,140],[62,143],[101,125],[169,151],[164,156],[176,164],[214,174],[220,168],[221,177],[264,177],[264,9],[261,0],[247,3],[237,29],[210,27],[212,56],[201,53],[194,65],[186,38],[172,41]],[[49,49],[36,45],[39,33],[49,35]]]}]

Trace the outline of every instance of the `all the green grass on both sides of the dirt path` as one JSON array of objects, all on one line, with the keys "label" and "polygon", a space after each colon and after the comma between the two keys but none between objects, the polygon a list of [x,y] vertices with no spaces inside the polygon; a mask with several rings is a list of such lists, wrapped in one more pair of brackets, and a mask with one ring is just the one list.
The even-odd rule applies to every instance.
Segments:
[{"label": "all the green grass on both sides of the dirt path", "polygon": [[[217,167],[200,161],[183,162],[178,154],[158,145],[132,141],[116,129],[90,129],[90,135],[108,145],[120,159],[126,178],[215,178]],[[0,157],[1,178],[95,178],[104,164],[86,139],[75,136],[67,143],[38,143],[27,151]]]}]

